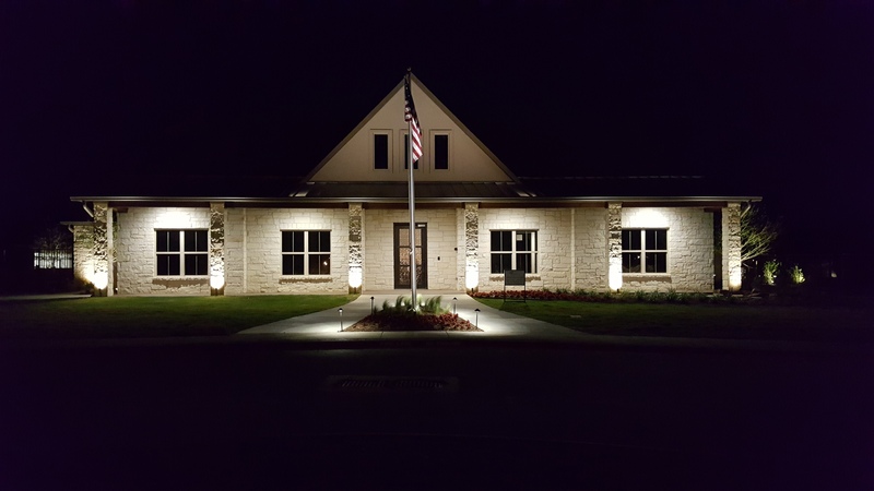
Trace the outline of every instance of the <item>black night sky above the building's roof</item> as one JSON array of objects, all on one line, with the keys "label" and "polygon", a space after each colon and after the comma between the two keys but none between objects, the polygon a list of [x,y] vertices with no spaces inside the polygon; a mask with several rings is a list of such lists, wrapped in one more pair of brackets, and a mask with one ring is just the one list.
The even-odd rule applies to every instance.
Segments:
[{"label": "black night sky above the building's roof", "polygon": [[4,232],[95,177],[294,179],[412,67],[517,175],[727,177],[795,243],[872,237],[874,2],[586,3],[0,2]]}]

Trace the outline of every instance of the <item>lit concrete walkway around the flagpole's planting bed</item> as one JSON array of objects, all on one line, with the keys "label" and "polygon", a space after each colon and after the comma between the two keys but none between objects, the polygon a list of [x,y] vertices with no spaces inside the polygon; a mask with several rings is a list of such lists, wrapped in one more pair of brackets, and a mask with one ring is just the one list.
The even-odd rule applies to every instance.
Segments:
[{"label": "lit concrete walkway around the flagpole's planting bed", "polygon": [[[355,301],[343,306],[342,322],[346,328],[361,321],[370,313],[371,298],[373,306],[380,309],[383,301],[393,304],[402,291],[382,291],[364,294]],[[409,294],[406,295],[409,297]],[[462,319],[476,324],[483,332],[459,332],[440,331],[427,332],[402,332],[402,333],[347,333],[340,332],[341,315],[338,309],[324,310],[297,318],[285,319],[283,321],[260,325],[238,334],[282,334],[296,339],[305,340],[364,340],[364,339],[461,339],[461,338],[520,338],[519,340],[541,340],[541,342],[579,342],[591,336],[578,333],[567,327],[548,324],[543,321],[523,318],[507,313],[497,309],[486,307],[468,295],[457,292],[426,291],[422,297],[441,297],[444,307],[452,311],[453,298],[454,309]],[[476,312],[480,309],[480,312]]]}]

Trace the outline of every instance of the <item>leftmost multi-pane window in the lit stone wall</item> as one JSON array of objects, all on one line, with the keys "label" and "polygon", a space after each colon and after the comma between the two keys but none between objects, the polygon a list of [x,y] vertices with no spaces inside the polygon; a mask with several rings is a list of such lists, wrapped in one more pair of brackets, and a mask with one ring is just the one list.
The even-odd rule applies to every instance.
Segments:
[{"label": "leftmost multi-pane window in the lit stone wall", "polygon": [[206,276],[206,230],[155,230],[158,276]]}]

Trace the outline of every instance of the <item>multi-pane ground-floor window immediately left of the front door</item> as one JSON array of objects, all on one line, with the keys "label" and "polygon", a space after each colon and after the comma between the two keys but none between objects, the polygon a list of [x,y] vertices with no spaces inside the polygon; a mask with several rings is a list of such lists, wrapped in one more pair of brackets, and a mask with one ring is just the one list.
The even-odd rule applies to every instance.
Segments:
[{"label": "multi-pane ground-floor window immediately left of the front door", "polygon": [[331,232],[323,230],[283,230],[282,274],[330,275]]}]

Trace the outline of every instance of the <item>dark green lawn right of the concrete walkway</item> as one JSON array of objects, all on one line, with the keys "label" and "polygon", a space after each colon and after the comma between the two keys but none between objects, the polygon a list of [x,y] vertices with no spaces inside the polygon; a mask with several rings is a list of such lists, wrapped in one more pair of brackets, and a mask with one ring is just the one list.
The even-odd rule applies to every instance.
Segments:
[{"label": "dark green lawn right of the concrete walkway", "polygon": [[476,300],[589,334],[874,342],[872,308]]}]

